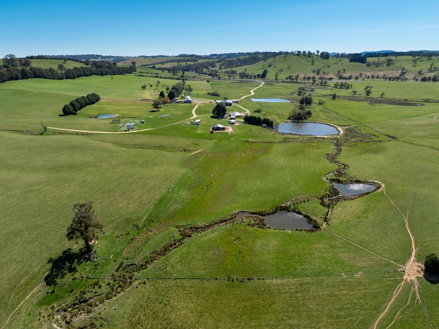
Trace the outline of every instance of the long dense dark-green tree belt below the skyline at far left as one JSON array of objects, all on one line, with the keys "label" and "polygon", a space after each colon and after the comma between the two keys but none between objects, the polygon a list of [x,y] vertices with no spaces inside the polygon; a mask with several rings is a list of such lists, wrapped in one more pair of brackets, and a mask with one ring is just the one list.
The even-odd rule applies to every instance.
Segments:
[{"label": "long dense dark-green tree belt below the skyline at far left", "polygon": [[[11,56],[11,55],[8,55]],[[13,56],[13,55],[12,55]],[[17,58],[9,58],[14,63],[19,63]],[[3,58],[4,61],[4,58]],[[9,63],[9,62],[8,62]],[[24,63],[24,62],[23,62]],[[15,65],[15,64],[14,64]],[[92,62],[90,66],[74,67],[73,69],[66,69],[64,72],[59,72],[53,68],[43,69],[40,67],[27,66],[11,66],[7,64],[6,68],[0,68],[0,83],[13,80],[43,78],[52,80],[62,79],[76,79],[77,77],[90,77],[93,75],[123,75],[136,72],[135,65],[117,66],[116,63],[97,61]]]}]

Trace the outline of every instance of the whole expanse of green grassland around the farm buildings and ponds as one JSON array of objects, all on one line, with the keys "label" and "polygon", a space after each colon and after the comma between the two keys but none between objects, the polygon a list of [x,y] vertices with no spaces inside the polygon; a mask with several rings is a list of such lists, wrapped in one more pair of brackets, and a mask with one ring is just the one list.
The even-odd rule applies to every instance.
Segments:
[{"label": "whole expanse of green grassland around the farm buildings and ponds", "polygon": [[[315,59],[311,65],[289,54],[247,69],[265,67],[273,78],[275,69],[312,74],[324,63],[332,74],[372,72]],[[398,65],[403,60],[409,63],[399,57]],[[154,112],[139,100],[157,98],[178,80],[153,74],[142,68],[125,76],[0,84],[0,174],[7,187],[0,195],[0,328],[438,326],[437,285],[432,278],[407,281],[401,269],[412,252],[407,227],[418,261],[439,254],[439,84],[366,78],[345,90],[334,82],[266,81],[228,108],[284,121],[305,86],[314,99],[308,121],[344,130],[317,138],[242,121],[210,134],[212,124],[227,124],[211,115],[213,100],[250,95],[261,83],[191,76],[192,104]],[[366,85],[373,86],[368,97]],[[103,99],[76,116],[59,116],[65,103],[91,92]],[[201,125],[186,124],[195,119],[192,111]],[[109,113],[134,122],[134,132],[112,134],[126,128],[95,118]],[[321,199],[331,200],[323,197],[330,186],[324,175],[337,169],[327,157],[334,143],[346,176],[380,181],[384,189],[339,202],[319,232],[269,230],[247,219],[212,224],[288,202],[322,223]],[[93,245],[96,262],[85,261],[83,244],[65,236],[73,204],[87,198],[104,226]]]}]

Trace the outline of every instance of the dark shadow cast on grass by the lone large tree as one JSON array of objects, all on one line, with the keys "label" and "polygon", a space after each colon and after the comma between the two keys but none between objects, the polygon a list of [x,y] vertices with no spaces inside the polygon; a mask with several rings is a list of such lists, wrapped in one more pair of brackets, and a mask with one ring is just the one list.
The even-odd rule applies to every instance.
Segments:
[{"label": "dark shadow cast on grass by the lone large tree", "polygon": [[74,252],[71,248],[66,249],[57,258],[50,258],[47,262],[52,264],[49,272],[44,277],[44,281],[48,286],[57,285],[57,280],[63,278],[66,273],[76,271],[76,266],[81,264],[85,258],[85,248]]}]

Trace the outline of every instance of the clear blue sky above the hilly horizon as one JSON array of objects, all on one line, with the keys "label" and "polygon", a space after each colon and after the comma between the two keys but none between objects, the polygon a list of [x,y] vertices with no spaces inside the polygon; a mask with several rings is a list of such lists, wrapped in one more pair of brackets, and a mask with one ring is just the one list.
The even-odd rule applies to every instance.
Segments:
[{"label": "clear blue sky above the hilly horizon", "polygon": [[0,0],[0,58],[439,51],[438,12],[438,0]]}]

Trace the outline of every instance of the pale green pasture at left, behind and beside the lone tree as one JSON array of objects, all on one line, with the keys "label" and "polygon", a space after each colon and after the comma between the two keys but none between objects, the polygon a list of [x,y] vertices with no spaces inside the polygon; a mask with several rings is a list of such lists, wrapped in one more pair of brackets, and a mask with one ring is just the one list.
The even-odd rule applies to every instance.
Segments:
[{"label": "pale green pasture at left, behind and beside the lone tree", "polygon": [[1,140],[1,174],[10,186],[0,197],[9,214],[0,219],[3,315],[41,283],[54,251],[74,246],[65,238],[74,202],[93,199],[111,233],[110,223],[144,213],[197,159],[86,136],[1,132]]}]

